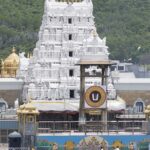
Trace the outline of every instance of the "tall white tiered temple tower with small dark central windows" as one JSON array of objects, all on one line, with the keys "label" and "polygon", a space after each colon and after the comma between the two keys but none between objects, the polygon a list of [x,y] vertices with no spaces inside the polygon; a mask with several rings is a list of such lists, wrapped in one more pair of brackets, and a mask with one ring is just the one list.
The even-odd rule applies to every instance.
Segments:
[{"label": "tall white tiered temple tower with small dark central windows", "polygon": [[92,13],[91,0],[45,0],[39,40],[25,78],[24,100],[79,100],[80,71],[75,64],[84,55],[109,55],[106,39],[96,34]]}]

